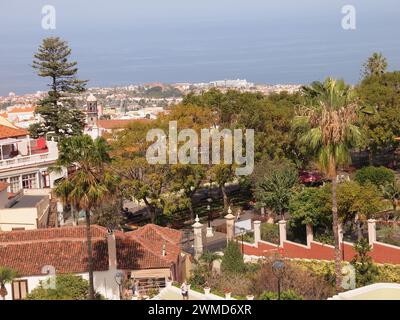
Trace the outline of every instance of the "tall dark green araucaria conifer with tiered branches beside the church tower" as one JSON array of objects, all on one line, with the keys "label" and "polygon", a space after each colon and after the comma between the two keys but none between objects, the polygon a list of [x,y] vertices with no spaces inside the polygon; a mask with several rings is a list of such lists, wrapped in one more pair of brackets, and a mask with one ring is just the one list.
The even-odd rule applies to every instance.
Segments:
[{"label": "tall dark green araucaria conifer with tiered branches beside the church tower", "polygon": [[33,137],[52,133],[57,137],[79,135],[84,128],[84,114],[76,108],[73,94],[85,91],[87,81],[76,78],[76,61],[69,61],[71,49],[59,37],[43,40],[34,55],[32,67],[38,76],[50,78],[48,95],[39,101],[36,113],[42,122],[29,130]]}]

